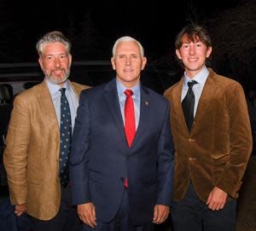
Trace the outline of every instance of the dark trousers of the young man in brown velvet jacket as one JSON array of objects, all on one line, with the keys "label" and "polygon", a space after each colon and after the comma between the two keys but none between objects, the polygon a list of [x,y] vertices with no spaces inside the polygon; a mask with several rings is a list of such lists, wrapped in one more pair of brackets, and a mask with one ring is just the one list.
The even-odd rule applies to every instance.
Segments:
[{"label": "dark trousers of the young man in brown velvet jacket", "polygon": [[236,200],[229,199],[223,210],[212,211],[201,201],[189,184],[185,197],[172,206],[174,231],[234,231],[236,225]]}]

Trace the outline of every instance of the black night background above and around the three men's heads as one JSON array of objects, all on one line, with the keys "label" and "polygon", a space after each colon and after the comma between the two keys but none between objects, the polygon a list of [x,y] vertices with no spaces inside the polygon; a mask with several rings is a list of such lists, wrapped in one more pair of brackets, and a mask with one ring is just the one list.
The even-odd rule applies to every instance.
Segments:
[{"label": "black night background above and around the three men's heads", "polygon": [[53,30],[72,41],[73,61],[109,61],[115,40],[130,35],[143,44],[148,64],[174,82],[183,72],[174,40],[194,21],[212,36],[210,66],[245,89],[256,85],[256,0],[0,0],[0,8],[0,64],[37,61],[38,39]]}]

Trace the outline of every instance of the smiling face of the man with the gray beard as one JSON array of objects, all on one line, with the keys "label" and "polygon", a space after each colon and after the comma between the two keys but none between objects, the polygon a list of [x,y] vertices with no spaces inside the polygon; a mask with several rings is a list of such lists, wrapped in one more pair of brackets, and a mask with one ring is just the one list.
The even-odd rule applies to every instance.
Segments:
[{"label": "smiling face of the man with the gray beard", "polygon": [[46,43],[38,61],[45,78],[50,83],[62,85],[66,82],[70,73],[72,56],[67,53],[63,43]]}]

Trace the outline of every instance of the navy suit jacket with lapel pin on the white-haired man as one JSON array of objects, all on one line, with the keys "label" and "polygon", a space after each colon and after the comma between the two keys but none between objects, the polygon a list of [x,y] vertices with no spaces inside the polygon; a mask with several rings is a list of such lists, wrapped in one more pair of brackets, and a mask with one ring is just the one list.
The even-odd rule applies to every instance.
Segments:
[{"label": "navy suit jacket with lapel pin on the white-haired man", "polygon": [[128,177],[131,221],[151,222],[154,205],[171,205],[173,150],[168,102],[142,87],[137,134],[128,147],[116,80],[84,90],[73,131],[73,203],[92,202],[96,218],[115,217]]}]

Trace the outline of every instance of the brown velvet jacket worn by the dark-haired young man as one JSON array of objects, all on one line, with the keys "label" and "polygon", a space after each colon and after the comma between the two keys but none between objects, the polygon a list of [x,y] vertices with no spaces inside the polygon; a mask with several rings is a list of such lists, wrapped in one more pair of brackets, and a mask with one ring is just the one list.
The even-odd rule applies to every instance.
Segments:
[{"label": "brown velvet jacket worn by the dark-haired young man", "polygon": [[183,78],[164,93],[172,105],[176,200],[183,199],[190,181],[203,201],[215,186],[236,198],[252,151],[241,84],[209,71],[190,133],[181,105]]}]

